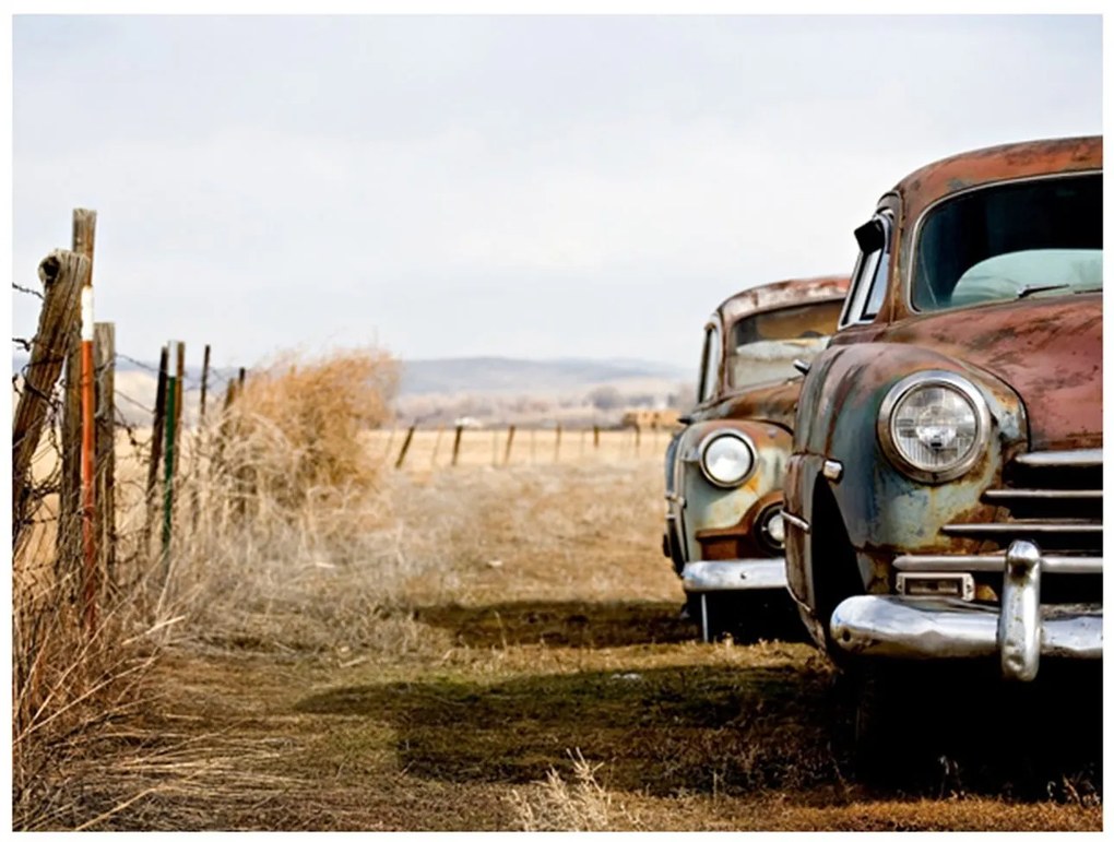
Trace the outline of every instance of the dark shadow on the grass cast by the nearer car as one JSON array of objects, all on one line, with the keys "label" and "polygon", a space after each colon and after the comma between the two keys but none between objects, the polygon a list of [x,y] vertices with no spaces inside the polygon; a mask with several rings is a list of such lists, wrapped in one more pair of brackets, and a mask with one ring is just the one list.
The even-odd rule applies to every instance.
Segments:
[{"label": "dark shadow on the grass cast by the nearer car", "polygon": [[[989,793],[1071,801],[1101,793],[1101,706],[1075,704],[1055,686],[1025,689],[1003,696],[980,695],[970,683],[949,688],[950,704],[935,718],[918,712],[895,733],[899,774],[860,787],[856,797]],[[599,781],[610,789],[652,795],[775,790],[799,803],[831,804],[849,797],[853,774],[847,695],[805,658],[494,684],[363,684],[310,696],[296,709],[389,725],[399,763],[433,781],[538,781],[550,768],[569,772],[569,752],[579,750],[604,764]],[[910,750],[902,768],[901,747],[912,733],[927,737],[929,748],[916,757]],[[360,740],[381,740],[382,730],[351,727],[338,738],[348,741],[345,751],[360,752]]]}]

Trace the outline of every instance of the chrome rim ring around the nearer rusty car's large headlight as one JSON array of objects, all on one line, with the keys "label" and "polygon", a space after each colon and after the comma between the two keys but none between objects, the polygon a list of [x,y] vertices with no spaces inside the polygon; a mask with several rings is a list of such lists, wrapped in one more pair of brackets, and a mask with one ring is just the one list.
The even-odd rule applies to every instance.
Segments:
[{"label": "chrome rim ring around the nearer rusty car's large headlight", "polygon": [[[893,412],[915,391],[932,386],[949,389],[960,395],[975,415],[975,439],[968,451],[942,470],[930,470],[911,462],[893,437]],[[878,440],[882,452],[902,472],[928,483],[954,480],[967,473],[986,449],[990,432],[990,409],[978,388],[960,374],[950,371],[919,371],[899,380],[882,399],[878,411]]]}]

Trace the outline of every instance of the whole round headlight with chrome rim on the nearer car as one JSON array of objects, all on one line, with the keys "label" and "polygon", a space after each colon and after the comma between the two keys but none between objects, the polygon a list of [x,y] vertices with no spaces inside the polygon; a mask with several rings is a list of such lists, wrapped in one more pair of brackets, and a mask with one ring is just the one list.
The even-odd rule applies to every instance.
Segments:
[{"label": "whole round headlight with chrome rim on the nearer car", "polygon": [[907,473],[932,482],[965,473],[986,447],[989,410],[979,391],[951,372],[918,372],[882,401],[883,450]]}]

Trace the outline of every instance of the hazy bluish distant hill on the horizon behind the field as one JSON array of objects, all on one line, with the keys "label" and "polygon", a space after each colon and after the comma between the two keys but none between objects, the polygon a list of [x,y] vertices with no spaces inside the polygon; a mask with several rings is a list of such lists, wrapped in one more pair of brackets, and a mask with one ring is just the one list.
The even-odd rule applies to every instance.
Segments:
[{"label": "hazy bluish distant hill on the horizon behind the field", "polygon": [[644,360],[404,360],[399,394],[537,394],[633,381],[687,381],[692,376],[687,368]]}]

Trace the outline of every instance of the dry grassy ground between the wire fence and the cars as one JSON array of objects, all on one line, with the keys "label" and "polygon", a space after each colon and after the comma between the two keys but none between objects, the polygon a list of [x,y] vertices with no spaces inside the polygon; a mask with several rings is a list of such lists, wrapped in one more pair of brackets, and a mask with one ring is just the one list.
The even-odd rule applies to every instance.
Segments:
[{"label": "dry grassy ground between the wire fence and the cars", "polygon": [[332,544],[228,537],[225,578],[182,603],[145,701],[42,826],[1102,828],[1101,722],[1062,738],[1052,694],[1026,702],[1052,751],[964,699],[974,743],[916,784],[854,783],[822,657],[680,619],[661,483],[656,457],[387,471]]}]

